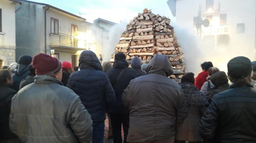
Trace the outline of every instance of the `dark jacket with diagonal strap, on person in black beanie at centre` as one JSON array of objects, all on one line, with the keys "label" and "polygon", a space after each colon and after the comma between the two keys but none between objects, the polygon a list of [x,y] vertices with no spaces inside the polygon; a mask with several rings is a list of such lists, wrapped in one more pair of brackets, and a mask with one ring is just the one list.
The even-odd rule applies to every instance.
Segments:
[{"label": "dark jacket with diagonal strap, on person in black beanie at centre", "polygon": [[[123,69],[124,71],[120,76],[118,83],[116,83],[116,79]],[[115,114],[129,114],[128,107],[122,102],[122,93],[129,82],[137,77],[136,71],[128,67],[126,60],[116,60],[113,67],[107,71],[107,75],[116,94],[116,100],[110,105],[109,112]]]}]

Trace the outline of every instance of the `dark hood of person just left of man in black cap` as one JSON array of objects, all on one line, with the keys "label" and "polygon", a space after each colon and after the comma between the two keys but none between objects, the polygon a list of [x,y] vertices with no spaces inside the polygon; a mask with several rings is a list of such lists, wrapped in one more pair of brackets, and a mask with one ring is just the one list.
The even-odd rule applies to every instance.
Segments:
[{"label": "dark hood of person just left of man in black cap", "polygon": [[219,87],[225,83],[228,83],[227,75],[223,71],[218,71],[212,74],[210,80],[215,87]]}]

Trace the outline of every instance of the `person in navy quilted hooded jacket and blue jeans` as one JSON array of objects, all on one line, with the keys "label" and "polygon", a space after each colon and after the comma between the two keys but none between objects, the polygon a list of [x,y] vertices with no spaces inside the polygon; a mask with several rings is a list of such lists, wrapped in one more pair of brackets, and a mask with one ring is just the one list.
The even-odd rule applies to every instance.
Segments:
[{"label": "person in navy quilted hooded jacket and blue jeans", "polygon": [[79,67],[80,71],[70,75],[67,87],[80,96],[85,109],[91,115],[92,143],[103,143],[105,106],[115,100],[115,93],[95,53],[83,51],[79,58]]}]

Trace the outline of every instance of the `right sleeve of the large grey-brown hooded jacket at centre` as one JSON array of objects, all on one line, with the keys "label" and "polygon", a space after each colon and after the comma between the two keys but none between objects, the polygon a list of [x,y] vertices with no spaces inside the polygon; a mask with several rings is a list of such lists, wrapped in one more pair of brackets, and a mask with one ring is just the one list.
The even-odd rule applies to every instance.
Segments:
[{"label": "right sleeve of the large grey-brown hooded jacket at centre", "polygon": [[178,124],[182,124],[183,121],[187,118],[188,116],[188,106],[187,106],[187,102],[185,100],[185,96],[184,93],[182,91],[178,92],[178,108],[176,111],[176,116],[177,116],[177,120],[176,122]]}]

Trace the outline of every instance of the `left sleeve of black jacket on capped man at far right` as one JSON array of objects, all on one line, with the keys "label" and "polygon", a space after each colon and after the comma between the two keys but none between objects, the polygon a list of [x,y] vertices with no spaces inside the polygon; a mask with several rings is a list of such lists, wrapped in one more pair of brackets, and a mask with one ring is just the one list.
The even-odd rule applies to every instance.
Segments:
[{"label": "left sleeve of black jacket on capped man at far right", "polygon": [[212,140],[219,119],[216,100],[212,97],[209,107],[199,123],[199,132],[202,138]]}]

